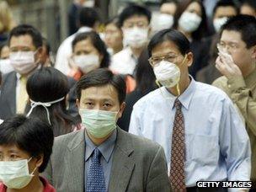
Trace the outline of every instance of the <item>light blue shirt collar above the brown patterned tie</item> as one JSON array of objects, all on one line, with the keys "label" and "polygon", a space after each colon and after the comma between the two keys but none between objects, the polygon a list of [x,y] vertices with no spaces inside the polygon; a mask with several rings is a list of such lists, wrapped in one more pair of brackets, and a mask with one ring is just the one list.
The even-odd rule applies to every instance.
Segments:
[{"label": "light blue shirt collar above the brown patterned tie", "polygon": [[[189,109],[189,104],[191,103],[191,99],[193,98],[193,95],[195,93],[195,80],[193,77],[190,77],[190,83],[189,83],[189,87],[185,89],[184,93],[182,93],[181,95],[179,95],[179,101],[180,103],[184,106],[185,109]],[[178,97],[174,96],[172,93],[170,93],[168,91],[167,88],[163,87],[162,88],[163,93],[164,93],[164,97],[168,97],[168,99],[171,102],[171,106],[174,107],[174,102],[175,99],[177,99]]]}]

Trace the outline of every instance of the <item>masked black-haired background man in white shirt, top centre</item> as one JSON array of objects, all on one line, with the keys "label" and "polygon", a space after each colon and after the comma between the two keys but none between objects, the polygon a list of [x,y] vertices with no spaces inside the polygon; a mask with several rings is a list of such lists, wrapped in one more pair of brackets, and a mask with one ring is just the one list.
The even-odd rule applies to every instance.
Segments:
[{"label": "masked black-haired background man in white shirt, top centre", "polygon": [[151,12],[139,5],[130,5],[120,13],[119,19],[125,48],[113,56],[110,69],[134,75],[137,60],[147,46]]}]

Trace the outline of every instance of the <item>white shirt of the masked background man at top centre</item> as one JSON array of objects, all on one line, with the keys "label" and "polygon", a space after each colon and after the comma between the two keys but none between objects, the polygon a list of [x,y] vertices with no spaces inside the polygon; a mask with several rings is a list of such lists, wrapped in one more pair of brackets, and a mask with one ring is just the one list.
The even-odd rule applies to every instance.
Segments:
[{"label": "white shirt of the masked background man at top centre", "polygon": [[134,74],[137,59],[133,56],[131,48],[125,47],[122,51],[112,56],[110,70],[119,74]]}]

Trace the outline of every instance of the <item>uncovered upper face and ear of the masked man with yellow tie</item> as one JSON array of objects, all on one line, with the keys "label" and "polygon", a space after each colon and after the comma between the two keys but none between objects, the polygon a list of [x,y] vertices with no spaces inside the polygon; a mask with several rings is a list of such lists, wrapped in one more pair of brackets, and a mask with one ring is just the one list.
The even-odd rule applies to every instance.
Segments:
[{"label": "uncovered upper face and ear of the masked man with yellow tie", "polygon": [[[18,51],[37,51],[30,35],[12,36],[9,47],[11,53]],[[41,49],[35,53],[35,61],[40,60],[40,57]]]}]

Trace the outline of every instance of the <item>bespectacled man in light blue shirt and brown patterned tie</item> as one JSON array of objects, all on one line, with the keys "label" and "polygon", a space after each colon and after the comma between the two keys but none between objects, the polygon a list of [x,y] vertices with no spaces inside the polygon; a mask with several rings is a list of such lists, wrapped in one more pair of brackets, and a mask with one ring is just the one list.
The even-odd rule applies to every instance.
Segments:
[{"label": "bespectacled man in light blue shirt and brown patterned tie", "polygon": [[227,191],[201,190],[196,183],[248,181],[251,151],[243,121],[226,93],[189,76],[189,40],[164,29],[152,37],[148,52],[163,87],[134,105],[129,131],[163,146],[173,191]]}]

